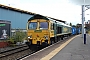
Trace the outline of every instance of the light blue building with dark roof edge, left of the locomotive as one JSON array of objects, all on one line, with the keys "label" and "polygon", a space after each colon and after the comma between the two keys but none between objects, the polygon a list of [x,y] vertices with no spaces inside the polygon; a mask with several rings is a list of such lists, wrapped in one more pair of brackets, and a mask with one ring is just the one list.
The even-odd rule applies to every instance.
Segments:
[{"label": "light blue building with dark roof edge, left of the locomotive", "polygon": [[33,15],[35,13],[0,4],[0,20],[11,21],[12,29],[26,29],[27,20]]}]

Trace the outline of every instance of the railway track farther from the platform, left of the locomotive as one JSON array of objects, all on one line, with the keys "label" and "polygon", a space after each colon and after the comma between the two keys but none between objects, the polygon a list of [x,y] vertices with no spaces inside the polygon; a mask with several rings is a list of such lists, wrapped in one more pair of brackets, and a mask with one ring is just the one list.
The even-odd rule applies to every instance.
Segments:
[{"label": "railway track farther from the platform, left of the locomotive", "polygon": [[13,55],[15,53],[18,53],[18,52],[21,52],[21,51],[24,51],[27,49],[29,49],[29,48],[26,45],[22,45],[20,47],[16,47],[16,48],[13,48],[10,50],[2,51],[2,52],[0,52],[0,58],[6,57],[9,55]]}]

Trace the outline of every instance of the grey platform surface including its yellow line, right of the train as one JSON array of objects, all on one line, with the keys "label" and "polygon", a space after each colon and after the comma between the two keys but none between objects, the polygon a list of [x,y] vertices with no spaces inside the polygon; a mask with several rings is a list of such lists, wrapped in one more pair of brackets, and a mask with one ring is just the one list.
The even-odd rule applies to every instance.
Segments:
[{"label": "grey platform surface including its yellow line, right of the train", "polygon": [[86,44],[82,35],[68,40],[41,60],[90,60],[90,35],[86,35]]}]

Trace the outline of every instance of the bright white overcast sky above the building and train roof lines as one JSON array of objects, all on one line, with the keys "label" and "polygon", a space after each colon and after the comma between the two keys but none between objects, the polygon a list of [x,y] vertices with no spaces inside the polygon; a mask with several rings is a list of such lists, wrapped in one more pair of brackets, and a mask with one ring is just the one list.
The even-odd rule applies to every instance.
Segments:
[{"label": "bright white overcast sky above the building and train roof lines", "polygon": [[[76,25],[81,23],[81,5],[84,0],[0,0],[0,4],[19,8],[29,12],[64,20]],[[87,4],[90,0],[85,1]],[[90,10],[85,12],[89,20]],[[88,15],[87,15],[88,14]]]}]

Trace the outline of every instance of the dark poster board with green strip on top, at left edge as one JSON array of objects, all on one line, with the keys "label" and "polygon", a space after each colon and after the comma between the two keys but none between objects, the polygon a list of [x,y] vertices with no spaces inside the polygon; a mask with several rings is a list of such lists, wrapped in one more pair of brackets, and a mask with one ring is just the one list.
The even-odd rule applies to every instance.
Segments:
[{"label": "dark poster board with green strip on top, at left edge", "polygon": [[11,21],[0,20],[0,40],[7,39],[11,34]]}]

